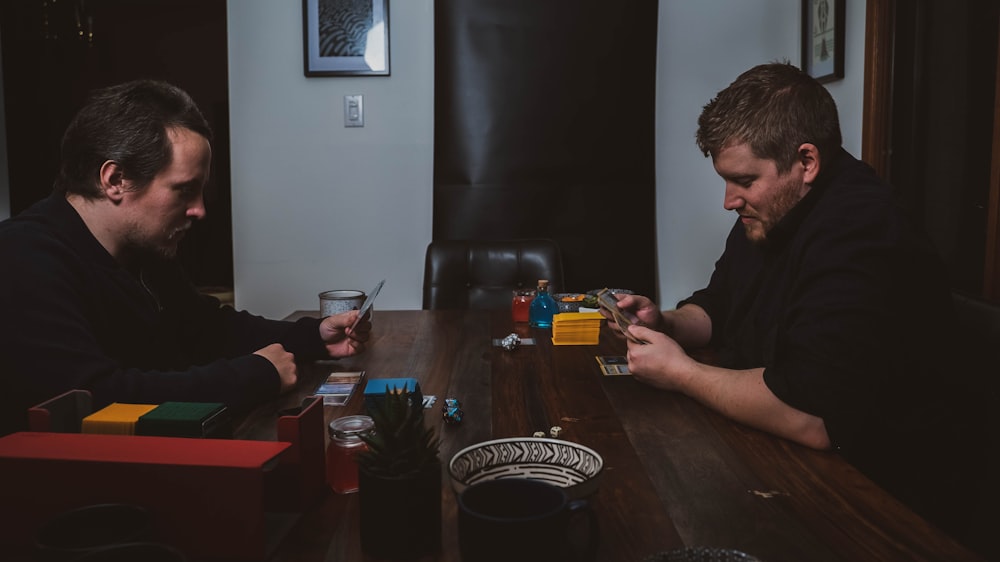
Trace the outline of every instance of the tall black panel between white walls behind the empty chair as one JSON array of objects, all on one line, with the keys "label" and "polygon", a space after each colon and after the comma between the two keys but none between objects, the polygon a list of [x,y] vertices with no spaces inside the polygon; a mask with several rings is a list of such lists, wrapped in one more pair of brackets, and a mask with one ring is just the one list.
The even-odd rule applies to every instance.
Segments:
[{"label": "tall black panel between white walls behind the empty chair", "polygon": [[435,3],[434,239],[550,238],[654,295],[657,1]]}]

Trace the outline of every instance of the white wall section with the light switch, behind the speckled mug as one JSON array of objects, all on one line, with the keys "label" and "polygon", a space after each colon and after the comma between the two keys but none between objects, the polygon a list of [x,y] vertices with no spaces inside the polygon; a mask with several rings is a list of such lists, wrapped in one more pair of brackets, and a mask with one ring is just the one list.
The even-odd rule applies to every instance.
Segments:
[{"label": "white wall section with the light switch, behind the speckled mug", "polygon": [[[306,78],[300,0],[230,0],[236,305],[283,317],[327,289],[420,308],[431,239],[433,0],[392,2],[388,77]],[[364,128],[343,97],[364,96]]]}]

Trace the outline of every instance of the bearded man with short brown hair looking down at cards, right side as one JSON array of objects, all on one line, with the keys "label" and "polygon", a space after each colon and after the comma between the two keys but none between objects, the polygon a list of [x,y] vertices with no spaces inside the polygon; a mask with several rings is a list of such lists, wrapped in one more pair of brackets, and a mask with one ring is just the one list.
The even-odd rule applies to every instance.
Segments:
[{"label": "bearded man with short brown hair looking down at cards, right side", "polygon": [[[956,528],[966,446],[949,362],[945,268],[891,189],[841,148],[836,104],[798,68],[765,64],[709,102],[698,147],[739,218],[708,286],[661,311],[624,295],[629,369],[749,426],[833,449]],[[609,321],[611,321],[609,315]],[[712,364],[685,349],[712,347]],[[978,461],[976,461],[978,462]],[[964,464],[963,464],[964,463]]]}]

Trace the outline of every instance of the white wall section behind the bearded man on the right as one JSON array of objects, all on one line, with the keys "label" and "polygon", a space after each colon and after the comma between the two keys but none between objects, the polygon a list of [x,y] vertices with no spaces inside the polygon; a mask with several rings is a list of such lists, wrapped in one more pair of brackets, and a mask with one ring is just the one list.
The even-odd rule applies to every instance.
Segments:
[{"label": "white wall section behind the bearded man on the right", "polygon": [[[844,79],[827,85],[844,146],[860,156],[864,2],[846,0]],[[659,302],[670,308],[703,287],[736,220],[723,184],[694,143],[701,108],[757,64],[801,61],[799,2],[660,0],[657,47],[656,217]]]}]

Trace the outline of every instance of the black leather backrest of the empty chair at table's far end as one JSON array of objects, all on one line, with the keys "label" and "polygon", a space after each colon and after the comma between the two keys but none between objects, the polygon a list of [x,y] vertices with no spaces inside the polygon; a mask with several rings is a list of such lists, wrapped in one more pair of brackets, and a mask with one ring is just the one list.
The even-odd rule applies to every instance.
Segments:
[{"label": "black leather backrest of the empty chair at table's far end", "polygon": [[510,307],[511,291],[548,279],[563,289],[562,254],[548,239],[435,240],[424,261],[424,309]]}]

